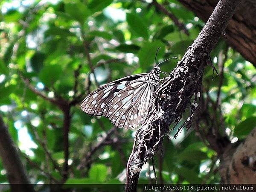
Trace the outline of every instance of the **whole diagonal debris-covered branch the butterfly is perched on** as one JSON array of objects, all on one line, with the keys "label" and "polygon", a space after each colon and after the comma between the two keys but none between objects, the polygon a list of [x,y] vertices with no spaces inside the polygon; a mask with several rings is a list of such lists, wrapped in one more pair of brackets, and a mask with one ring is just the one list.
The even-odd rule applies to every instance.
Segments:
[{"label": "whole diagonal debris-covered branch the butterfly is perched on", "polygon": [[[209,53],[221,37],[240,2],[241,0],[219,1],[198,38],[166,81],[157,89],[154,105],[147,120],[135,136],[134,148],[127,164],[126,192],[136,191],[141,167],[153,157],[163,137],[168,133],[169,125],[177,125],[189,105],[190,116],[178,132],[185,126],[187,128],[191,126],[192,116],[199,103],[204,67],[211,64]],[[193,99],[192,103],[190,103],[191,99]]]}]

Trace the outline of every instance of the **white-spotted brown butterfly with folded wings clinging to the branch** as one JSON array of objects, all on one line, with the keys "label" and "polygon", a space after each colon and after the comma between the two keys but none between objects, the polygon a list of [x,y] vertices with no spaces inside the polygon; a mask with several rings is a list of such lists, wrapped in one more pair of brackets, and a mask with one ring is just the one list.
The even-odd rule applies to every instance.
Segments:
[{"label": "white-spotted brown butterfly with folded wings clinging to the branch", "polygon": [[154,64],[149,73],[102,85],[84,98],[81,110],[92,116],[108,117],[119,128],[131,129],[143,124],[153,102],[153,93],[160,86],[160,73],[163,72],[159,64]]}]

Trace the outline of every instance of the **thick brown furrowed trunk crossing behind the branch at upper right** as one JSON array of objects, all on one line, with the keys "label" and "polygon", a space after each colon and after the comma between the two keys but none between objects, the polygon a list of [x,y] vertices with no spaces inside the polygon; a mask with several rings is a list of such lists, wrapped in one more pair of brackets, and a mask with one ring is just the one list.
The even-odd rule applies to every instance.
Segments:
[{"label": "thick brown furrowed trunk crossing behind the branch at upper right", "polygon": [[[218,0],[179,0],[205,22],[212,14]],[[256,67],[256,1],[244,0],[230,19],[224,38],[247,61]]]}]

